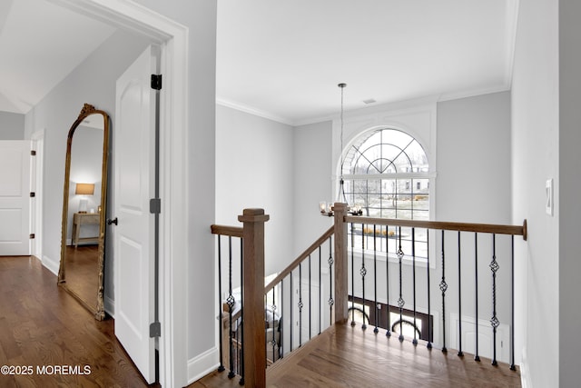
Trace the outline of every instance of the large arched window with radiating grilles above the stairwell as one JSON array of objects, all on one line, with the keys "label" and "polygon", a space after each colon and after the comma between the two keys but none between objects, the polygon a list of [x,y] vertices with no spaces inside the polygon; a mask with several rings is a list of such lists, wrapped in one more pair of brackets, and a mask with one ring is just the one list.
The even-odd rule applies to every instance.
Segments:
[{"label": "large arched window with radiating grilles above the stairwell", "polygon": [[[406,220],[429,220],[430,176],[428,157],[419,142],[402,131],[383,128],[363,134],[351,145],[342,165],[348,202],[363,215]],[[401,247],[411,258],[411,228],[353,224],[355,251],[373,249],[396,257]],[[428,233],[414,232],[417,259],[428,256]],[[375,241],[373,236],[375,235]]]}]

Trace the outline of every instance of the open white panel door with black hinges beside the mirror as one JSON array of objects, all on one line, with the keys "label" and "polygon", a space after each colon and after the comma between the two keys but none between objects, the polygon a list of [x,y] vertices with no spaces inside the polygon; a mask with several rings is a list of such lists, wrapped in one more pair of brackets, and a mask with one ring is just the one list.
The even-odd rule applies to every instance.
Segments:
[{"label": "open white panel door with black hinges beside the mirror", "polygon": [[148,383],[155,379],[153,221],[156,74],[152,47],[117,80],[113,124],[115,335]]}]

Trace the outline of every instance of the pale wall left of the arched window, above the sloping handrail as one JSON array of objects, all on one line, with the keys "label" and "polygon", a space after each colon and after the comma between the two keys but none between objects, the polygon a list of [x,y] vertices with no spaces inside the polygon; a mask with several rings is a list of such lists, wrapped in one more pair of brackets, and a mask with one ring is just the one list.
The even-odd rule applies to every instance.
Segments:
[{"label": "pale wall left of the arched window, above the sloping handrail", "polygon": [[216,106],[216,224],[241,226],[243,209],[263,208],[266,274],[294,259],[292,136],[289,125]]}]

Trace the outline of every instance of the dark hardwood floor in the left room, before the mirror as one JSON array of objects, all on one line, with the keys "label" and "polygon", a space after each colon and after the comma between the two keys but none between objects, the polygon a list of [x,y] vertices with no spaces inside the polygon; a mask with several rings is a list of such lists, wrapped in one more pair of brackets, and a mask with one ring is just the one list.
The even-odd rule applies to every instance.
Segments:
[{"label": "dark hardwood floor in the left room, before the mirror", "polygon": [[[113,320],[95,321],[35,257],[0,257],[3,365],[21,374],[3,368],[0,387],[148,386],[115,339]],[[71,374],[55,373],[62,365]]]}]

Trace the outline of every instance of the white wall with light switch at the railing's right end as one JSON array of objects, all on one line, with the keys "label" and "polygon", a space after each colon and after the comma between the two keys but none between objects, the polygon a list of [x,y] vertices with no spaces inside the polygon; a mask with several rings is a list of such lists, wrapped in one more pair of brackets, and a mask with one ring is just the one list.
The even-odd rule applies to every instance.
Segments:
[{"label": "white wall with light switch at the railing's right end", "polygon": [[528,241],[516,246],[516,325],[524,330],[516,333],[517,346],[522,348],[527,386],[576,386],[577,382],[567,385],[559,380],[559,365],[565,362],[557,340],[562,334],[558,292],[562,204],[556,201],[554,216],[545,213],[547,179],[554,179],[555,197],[560,196],[558,4],[530,0],[519,5],[512,84],[512,202],[513,222],[527,218]]}]

